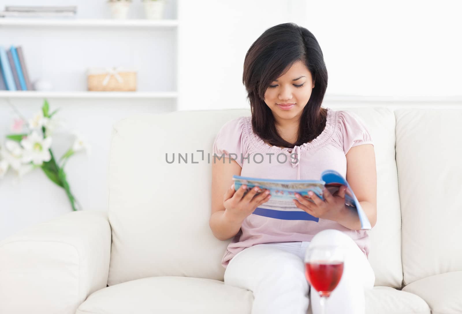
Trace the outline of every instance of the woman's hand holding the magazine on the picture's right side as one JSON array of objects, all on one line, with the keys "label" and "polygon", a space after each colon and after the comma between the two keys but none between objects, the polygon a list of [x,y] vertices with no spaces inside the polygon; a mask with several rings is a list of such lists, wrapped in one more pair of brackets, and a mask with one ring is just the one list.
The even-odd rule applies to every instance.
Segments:
[{"label": "woman's hand holding the magazine on the picture's right side", "polygon": [[324,194],[325,200],[322,201],[316,193],[309,192],[309,196],[311,200],[308,201],[305,197],[301,196],[298,193],[295,193],[297,200],[293,200],[295,206],[300,209],[303,209],[305,212],[309,213],[311,216],[321,219],[328,219],[333,221],[338,221],[344,212],[346,205],[345,205],[345,191],[346,186],[341,185],[340,189],[334,193],[335,195],[330,194],[327,188],[322,190]]}]

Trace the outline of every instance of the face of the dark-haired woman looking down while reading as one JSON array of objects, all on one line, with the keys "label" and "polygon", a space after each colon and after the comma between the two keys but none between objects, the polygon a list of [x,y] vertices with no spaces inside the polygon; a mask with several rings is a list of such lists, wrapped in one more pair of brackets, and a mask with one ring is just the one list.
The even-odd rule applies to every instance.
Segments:
[{"label": "face of the dark-haired woman looking down while reading", "polygon": [[[284,75],[265,91],[265,103],[278,123],[298,121],[314,88],[311,73],[301,61],[295,62]],[[281,106],[280,104],[292,104]]]}]

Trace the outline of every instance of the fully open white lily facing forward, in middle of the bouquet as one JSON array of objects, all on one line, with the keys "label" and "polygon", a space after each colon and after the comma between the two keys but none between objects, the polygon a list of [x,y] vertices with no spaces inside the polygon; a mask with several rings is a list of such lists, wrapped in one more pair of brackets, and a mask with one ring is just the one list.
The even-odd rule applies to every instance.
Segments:
[{"label": "fully open white lily facing forward, in middle of the bouquet", "polygon": [[24,138],[21,141],[24,147],[24,155],[22,161],[28,163],[32,161],[35,165],[42,165],[43,161],[51,160],[49,148],[51,147],[51,137],[46,137],[38,134],[36,131]]}]

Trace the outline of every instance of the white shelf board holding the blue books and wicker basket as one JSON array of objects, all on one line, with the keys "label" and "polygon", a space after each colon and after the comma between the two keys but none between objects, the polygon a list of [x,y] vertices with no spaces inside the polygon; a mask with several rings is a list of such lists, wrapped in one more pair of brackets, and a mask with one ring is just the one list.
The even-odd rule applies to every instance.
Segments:
[{"label": "white shelf board holding the blue books and wicker basket", "polygon": [[176,98],[176,92],[0,91],[1,98]]}]

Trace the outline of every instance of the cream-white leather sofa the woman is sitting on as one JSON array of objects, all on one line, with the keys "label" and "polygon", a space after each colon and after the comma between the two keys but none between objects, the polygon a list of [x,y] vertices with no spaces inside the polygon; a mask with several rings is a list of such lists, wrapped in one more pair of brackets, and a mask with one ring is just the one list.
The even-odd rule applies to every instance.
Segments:
[{"label": "cream-white leather sofa the woman is sitting on", "polygon": [[[377,162],[366,313],[462,313],[462,110],[346,109],[368,125]],[[223,283],[231,239],[208,225],[207,160],[219,128],[249,114],[182,111],[115,124],[108,214],[69,213],[2,241],[0,313],[250,313],[252,292]]]}]

